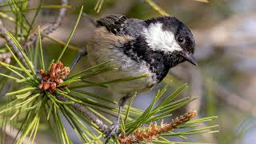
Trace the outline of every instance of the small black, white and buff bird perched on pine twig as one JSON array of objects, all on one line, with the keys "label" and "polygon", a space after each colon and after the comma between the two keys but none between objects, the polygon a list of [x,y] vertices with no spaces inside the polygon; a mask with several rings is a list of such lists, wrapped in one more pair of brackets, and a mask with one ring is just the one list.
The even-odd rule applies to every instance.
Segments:
[{"label": "small black, white and buff bird perched on pine twig", "polygon": [[190,29],[174,17],[141,20],[112,14],[90,21],[96,27],[86,46],[90,64],[113,60],[117,66],[98,77],[113,80],[148,74],[146,78],[110,84],[113,99],[119,102],[118,119],[106,133],[110,138],[118,132],[122,106],[135,91],[150,90],[179,63],[187,61],[197,66],[195,42]]}]

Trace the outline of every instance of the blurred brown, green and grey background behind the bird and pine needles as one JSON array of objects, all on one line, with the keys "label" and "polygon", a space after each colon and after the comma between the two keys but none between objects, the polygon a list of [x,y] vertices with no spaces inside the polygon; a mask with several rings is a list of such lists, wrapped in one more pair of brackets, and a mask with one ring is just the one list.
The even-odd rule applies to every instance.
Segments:
[{"label": "blurred brown, green and grey background behind the bird and pine needles", "polygon": [[[198,0],[199,1],[199,0]],[[141,94],[135,99],[134,106],[145,109],[154,98],[155,91],[166,84],[171,91],[184,83],[190,88],[184,97],[197,98],[186,106],[186,110],[198,110],[198,117],[218,115],[214,124],[219,124],[217,134],[203,134],[190,137],[190,142],[239,143],[256,142],[256,1],[255,0],[154,0],[170,16],[177,17],[189,26],[197,43],[195,58],[198,67],[183,63],[170,70],[170,74],[154,90]],[[60,4],[59,1],[43,0],[44,4]],[[80,6],[84,13],[95,18],[107,14],[126,14],[130,18],[153,18],[161,16],[146,0],[105,0],[102,10],[94,10],[96,0],[70,1],[68,14],[62,26],[50,34],[64,42],[68,38]],[[38,1],[30,1],[37,7]],[[30,12],[31,16],[34,12]],[[42,10],[37,24],[43,26],[54,21],[58,10]],[[71,45],[86,46],[94,27],[88,19],[82,18]],[[50,62],[56,58],[62,46],[44,39],[47,43],[46,55]],[[77,51],[70,50],[64,55],[67,65],[75,58]],[[86,58],[79,62],[86,66]],[[102,90],[100,90],[101,93]],[[178,114],[179,115],[179,114]],[[76,142],[76,137],[70,133]],[[38,137],[53,142],[47,134]],[[186,142],[186,141],[185,141]]]}]

